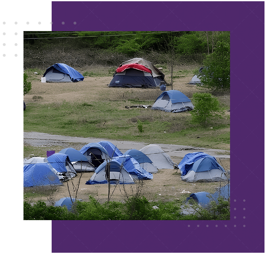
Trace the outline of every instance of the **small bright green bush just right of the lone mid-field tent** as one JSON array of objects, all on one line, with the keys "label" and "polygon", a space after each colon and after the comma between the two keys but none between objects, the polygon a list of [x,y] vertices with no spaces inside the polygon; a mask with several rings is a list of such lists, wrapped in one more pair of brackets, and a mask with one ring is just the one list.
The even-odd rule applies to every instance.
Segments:
[{"label": "small bright green bush just right of the lone mid-field tent", "polygon": [[217,98],[210,93],[194,93],[192,102],[194,109],[190,111],[192,122],[205,126],[206,120],[221,118],[223,113]]}]

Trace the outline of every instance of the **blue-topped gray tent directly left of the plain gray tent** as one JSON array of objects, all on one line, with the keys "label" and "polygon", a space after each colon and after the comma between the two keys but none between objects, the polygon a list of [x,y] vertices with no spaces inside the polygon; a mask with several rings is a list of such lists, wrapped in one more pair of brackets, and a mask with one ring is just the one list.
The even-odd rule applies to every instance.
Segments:
[{"label": "blue-topped gray tent directly left of the plain gray tent", "polygon": [[130,155],[140,164],[140,167],[149,173],[158,172],[157,167],[154,166],[153,162],[148,158],[148,156],[139,150],[129,149],[123,155]]}]

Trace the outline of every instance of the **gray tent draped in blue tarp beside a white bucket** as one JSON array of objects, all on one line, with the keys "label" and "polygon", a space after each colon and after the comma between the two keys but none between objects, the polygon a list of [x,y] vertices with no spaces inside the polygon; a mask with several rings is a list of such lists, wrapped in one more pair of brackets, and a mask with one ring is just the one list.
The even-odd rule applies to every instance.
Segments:
[{"label": "gray tent draped in blue tarp beside a white bucket", "polygon": [[74,68],[57,63],[50,66],[44,73],[46,82],[78,82],[83,81],[84,76]]}]

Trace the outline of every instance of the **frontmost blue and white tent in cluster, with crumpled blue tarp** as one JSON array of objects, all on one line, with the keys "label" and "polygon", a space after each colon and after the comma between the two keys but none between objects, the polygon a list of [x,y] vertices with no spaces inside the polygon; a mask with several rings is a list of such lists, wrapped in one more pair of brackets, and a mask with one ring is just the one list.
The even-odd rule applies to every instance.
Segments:
[{"label": "frontmost blue and white tent in cluster, with crumpled blue tarp", "polygon": [[139,163],[131,156],[119,156],[104,161],[93,176],[85,184],[108,183],[106,165],[110,163],[110,183],[129,184],[135,183],[134,179],[152,179],[153,175],[140,167]]}]

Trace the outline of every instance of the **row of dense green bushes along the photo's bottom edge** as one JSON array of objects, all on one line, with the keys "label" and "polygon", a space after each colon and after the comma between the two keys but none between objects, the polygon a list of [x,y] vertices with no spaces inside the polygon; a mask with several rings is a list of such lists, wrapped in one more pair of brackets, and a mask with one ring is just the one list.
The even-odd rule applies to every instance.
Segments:
[{"label": "row of dense green bushes along the photo's bottom edge", "polygon": [[33,206],[23,202],[23,220],[229,220],[229,202],[219,199],[209,209],[201,209],[194,215],[183,215],[181,201],[149,202],[145,197],[131,197],[123,202],[100,204],[90,197],[89,202],[77,201],[75,208],[46,206],[38,201]]}]

